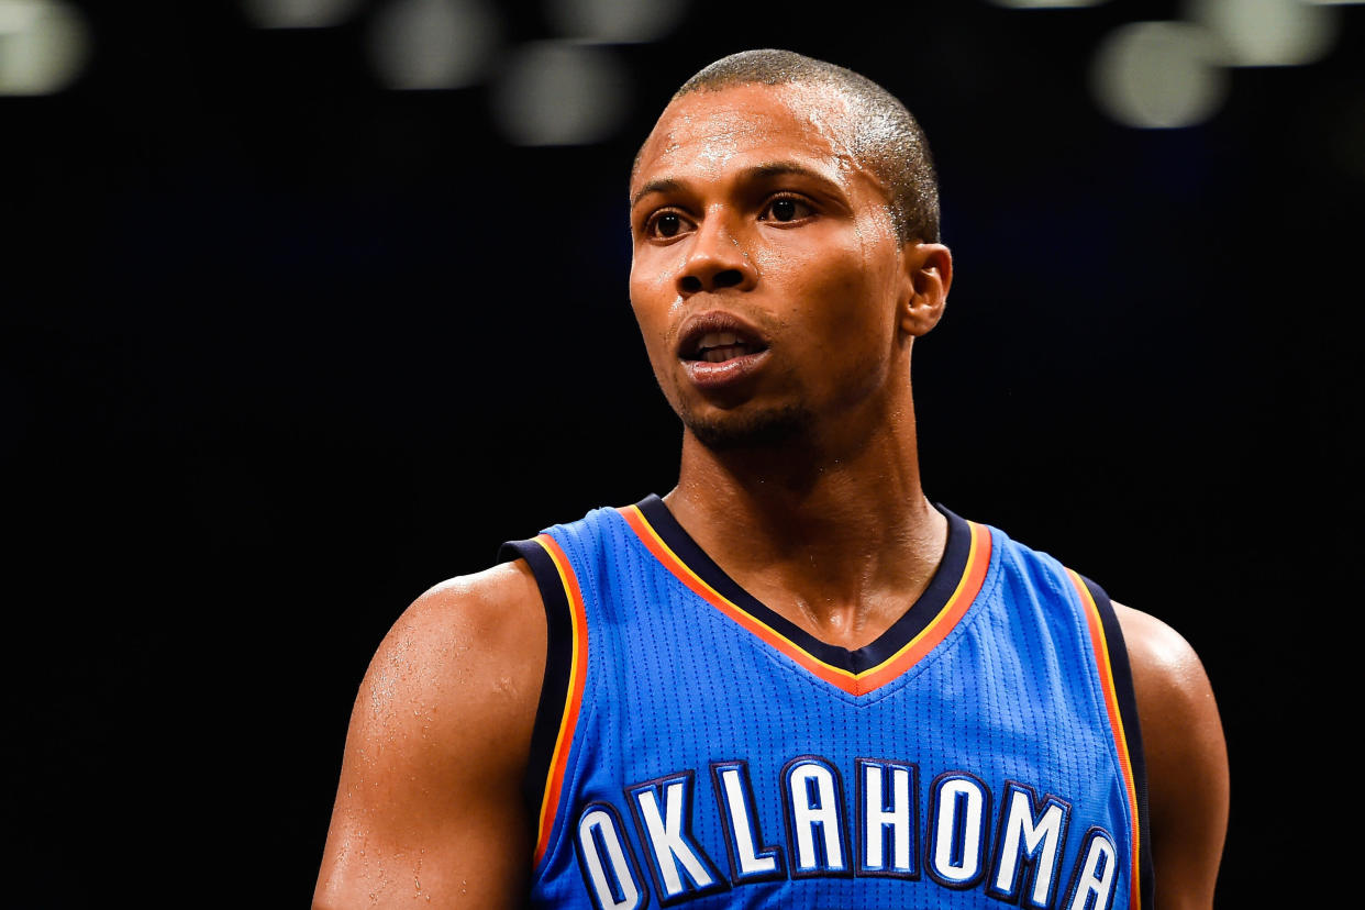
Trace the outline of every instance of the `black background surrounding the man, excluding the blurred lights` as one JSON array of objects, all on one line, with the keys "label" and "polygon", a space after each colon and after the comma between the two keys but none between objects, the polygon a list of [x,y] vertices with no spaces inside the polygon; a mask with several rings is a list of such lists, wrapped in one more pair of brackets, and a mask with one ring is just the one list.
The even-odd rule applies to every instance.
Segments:
[{"label": "black background surrounding the man, excluding the blurred lights", "polygon": [[[1201,654],[1220,903],[1335,892],[1365,8],[1323,60],[1231,71],[1208,123],[1143,131],[1088,67],[1175,3],[696,0],[609,48],[616,138],[516,147],[486,83],[381,87],[374,5],[265,31],[232,3],[90,3],[79,80],[0,98],[5,903],[303,905],[404,606],[672,486],[627,172],[670,91],[749,46],[860,70],[928,131],[957,265],[916,347],[931,498]],[[554,37],[535,4],[502,16],[508,48]]]}]

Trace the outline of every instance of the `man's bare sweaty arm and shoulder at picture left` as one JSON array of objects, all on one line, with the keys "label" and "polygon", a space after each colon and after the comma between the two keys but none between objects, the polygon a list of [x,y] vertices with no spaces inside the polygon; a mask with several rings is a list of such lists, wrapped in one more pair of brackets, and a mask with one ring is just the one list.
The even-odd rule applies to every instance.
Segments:
[{"label": "man's bare sweaty arm and shoulder at picture left", "polygon": [[520,786],[545,641],[520,561],[408,607],[355,703],[315,910],[524,902],[532,843]]}]

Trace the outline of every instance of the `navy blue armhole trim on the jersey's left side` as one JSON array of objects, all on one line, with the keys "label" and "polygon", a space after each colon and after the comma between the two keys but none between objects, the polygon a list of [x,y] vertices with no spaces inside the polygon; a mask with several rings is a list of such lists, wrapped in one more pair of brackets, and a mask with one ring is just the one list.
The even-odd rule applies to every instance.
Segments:
[{"label": "navy blue armhole trim on the jersey's left side", "polygon": [[[560,738],[560,724],[564,722],[564,700],[569,697],[573,670],[573,608],[564,592],[564,581],[554,559],[535,540],[509,540],[498,550],[498,562],[526,559],[541,589],[545,604],[545,677],[541,681],[541,701],[535,708],[535,726],[531,729],[531,752],[521,778],[521,798],[532,824],[541,817],[541,802],[545,799],[545,782],[554,761],[554,744]],[[539,836],[539,831],[536,831]]]}]

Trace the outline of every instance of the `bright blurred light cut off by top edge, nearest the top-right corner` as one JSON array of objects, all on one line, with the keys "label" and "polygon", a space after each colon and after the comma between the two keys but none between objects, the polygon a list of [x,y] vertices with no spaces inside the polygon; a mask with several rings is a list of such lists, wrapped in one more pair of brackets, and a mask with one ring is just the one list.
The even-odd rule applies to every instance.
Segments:
[{"label": "bright blurred light cut off by top edge, nearest the top-right corner", "polygon": [[1230,67],[1294,67],[1325,55],[1338,12],[1302,0],[1186,0],[1186,19],[1223,40]]}]

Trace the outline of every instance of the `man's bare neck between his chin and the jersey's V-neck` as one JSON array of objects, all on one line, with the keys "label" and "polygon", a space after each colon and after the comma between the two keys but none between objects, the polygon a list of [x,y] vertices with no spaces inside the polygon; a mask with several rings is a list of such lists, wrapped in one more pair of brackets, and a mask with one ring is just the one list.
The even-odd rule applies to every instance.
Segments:
[{"label": "man's bare neck between his chin and the jersey's V-neck", "polygon": [[[714,452],[684,435],[665,501],[736,581],[816,637],[876,639],[928,585],[947,523],[920,487],[913,407],[864,434]],[[833,441],[833,442],[831,442]]]}]

